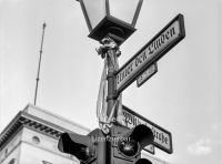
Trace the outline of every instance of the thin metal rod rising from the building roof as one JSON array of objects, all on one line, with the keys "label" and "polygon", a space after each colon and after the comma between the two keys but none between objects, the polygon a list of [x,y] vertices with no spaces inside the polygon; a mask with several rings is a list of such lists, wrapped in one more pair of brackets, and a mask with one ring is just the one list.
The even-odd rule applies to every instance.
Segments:
[{"label": "thin metal rod rising from the building roof", "polygon": [[37,104],[37,94],[38,94],[38,86],[39,86],[39,75],[40,75],[40,68],[41,68],[41,59],[42,59],[42,48],[43,48],[43,40],[44,40],[44,28],[47,27],[46,22],[42,24],[42,38],[41,38],[41,47],[39,51],[39,66],[37,73],[37,85],[36,85],[36,93],[34,93],[34,105]]}]

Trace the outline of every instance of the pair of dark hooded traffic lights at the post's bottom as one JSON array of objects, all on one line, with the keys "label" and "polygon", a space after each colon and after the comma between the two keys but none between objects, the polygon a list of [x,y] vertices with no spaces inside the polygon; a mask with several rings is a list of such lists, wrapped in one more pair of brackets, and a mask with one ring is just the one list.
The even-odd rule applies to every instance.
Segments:
[{"label": "pair of dark hooded traffic lights at the post's bottom", "polygon": [[62,133],[58,148],[81,164],[152,164],[141,158],[141,151],[152,142],[153,133],[145,125],[130,130],[113,125],[108,135],[99,129],[88,135]]}]

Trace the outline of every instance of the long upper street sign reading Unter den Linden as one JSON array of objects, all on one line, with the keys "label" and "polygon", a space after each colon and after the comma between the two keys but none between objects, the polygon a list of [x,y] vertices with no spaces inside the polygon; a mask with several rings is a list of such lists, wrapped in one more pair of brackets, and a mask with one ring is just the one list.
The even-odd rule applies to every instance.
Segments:
[{"label": "long upper street sign reading Unter den Linden", "polygon": [[178,14],[117,72],[117,93],[121,93],[138,75],[162,58],[184,37],[183,16]]}]

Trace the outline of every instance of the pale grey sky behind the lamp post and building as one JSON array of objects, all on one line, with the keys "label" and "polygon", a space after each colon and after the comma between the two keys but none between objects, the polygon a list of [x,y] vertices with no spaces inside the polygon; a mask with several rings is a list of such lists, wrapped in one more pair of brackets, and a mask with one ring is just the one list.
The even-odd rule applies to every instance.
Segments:
[{"label": "pale grey sky behind the lamp post and building", "polygon": [[[143,0],[135,28],[121,47],[120,66],[178,13],[185,39],[159,62],[141,88],[123,91],[123,104],[172,133],[174,164],[222,164],[222,2]],[[103,60],[75,0],[0,0],[0,131],[33,104],[42,23],[47,23],[37,106],[98,127]]]}]

